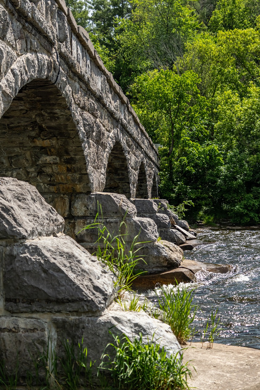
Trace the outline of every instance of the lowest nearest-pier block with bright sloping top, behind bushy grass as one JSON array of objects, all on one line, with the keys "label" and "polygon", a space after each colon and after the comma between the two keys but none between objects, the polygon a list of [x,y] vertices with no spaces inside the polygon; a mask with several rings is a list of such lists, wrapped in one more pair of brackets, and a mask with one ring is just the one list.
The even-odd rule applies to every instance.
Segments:
[{"label": "lowest nearest-pier block with bright sloping top, behind bushy grass", "polygon": [[[53,323],[57,329],[58,354],[63,350],[63,340],[73,340],[77,345],[83,336],[87,356],[92,361],[96,360],[97,365],[107,344],[114,341],[109,330],[114,335],[124,333],[130,339],[139,338],[139,333],[142,333],[144,343],[148,339],[153,339],[154,342],[160,343],[161,347],[164,346],[169,354],[176,354],[180,350],[180,345],[169,325],[148,316],[145,312],[125,312],[116,304],[100,317],[70,317],[69,320],[54,318]],[[110,348],[109,351],[112,352],[113,349]]]}]

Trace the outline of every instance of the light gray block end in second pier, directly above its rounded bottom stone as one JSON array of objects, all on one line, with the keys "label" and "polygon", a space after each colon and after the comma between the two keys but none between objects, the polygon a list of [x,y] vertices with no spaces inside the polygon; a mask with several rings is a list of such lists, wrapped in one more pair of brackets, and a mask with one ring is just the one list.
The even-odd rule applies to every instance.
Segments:
[{"label": "light gray block end in second pier, directly above its rounded bottom stone", "polygon": [[127,242],[133,242],[134,238],[139,234],[137,241],[157,241],[159,237],[157,226],[150,218],[131,218],[125,220],[125,225],[122,226],[122,234]]}]

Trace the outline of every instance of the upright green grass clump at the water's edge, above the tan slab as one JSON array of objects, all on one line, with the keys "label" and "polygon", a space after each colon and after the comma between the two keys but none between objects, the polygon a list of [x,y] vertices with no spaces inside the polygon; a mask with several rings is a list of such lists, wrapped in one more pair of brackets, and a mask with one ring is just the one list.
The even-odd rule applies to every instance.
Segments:
[{"label": "upright green grass clump at the water's edge, above the tan slab", "polygon": [[158,294],[158,305],[161,310],[160,319],[171,326],[180,344],[186,344],[186,341],[194,333],[192,322],[194,320],[197,305],[192,303],[194,298],[194,289],[187,289],[183,285],[176,287],[164,286]]}]

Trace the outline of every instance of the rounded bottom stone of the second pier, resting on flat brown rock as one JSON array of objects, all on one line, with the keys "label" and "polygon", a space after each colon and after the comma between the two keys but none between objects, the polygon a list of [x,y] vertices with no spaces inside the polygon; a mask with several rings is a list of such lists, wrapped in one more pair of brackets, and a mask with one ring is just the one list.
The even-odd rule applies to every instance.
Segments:
[{"label": "rounded bottom stone of the second pier, resting on flat brown rock", "polygon": [[160,240],[154,244],[143,244],[138,255],[143,256],[145,261],[140,261],[138,268],[157,272],[178,267],[183,258],[183,250],[173,243]]}]

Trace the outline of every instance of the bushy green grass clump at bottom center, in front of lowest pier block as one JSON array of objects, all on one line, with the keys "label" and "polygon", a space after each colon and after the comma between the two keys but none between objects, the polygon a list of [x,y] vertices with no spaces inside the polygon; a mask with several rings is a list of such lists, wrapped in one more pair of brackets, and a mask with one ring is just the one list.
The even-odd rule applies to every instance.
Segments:
[{"label": "bushy green grass clump at bottom center, in front of lowest pier block", "polygon": [[179,353],[169,355],[153,339],[144,343],[141,333],[133,341],[126,335],[112,336],[114,342],[108,346],[114,349],[113,357],[104,353],[99,369],[109,372],[114,389],[189,389],[187,380],[192,377],[191,370],[182,362]]}]

